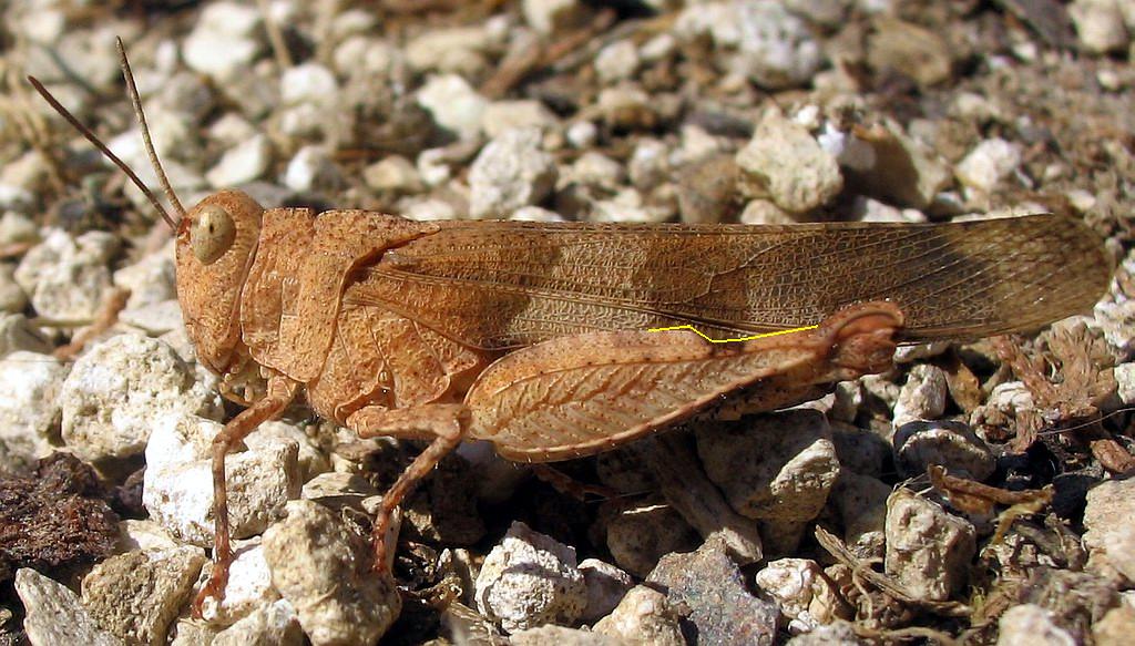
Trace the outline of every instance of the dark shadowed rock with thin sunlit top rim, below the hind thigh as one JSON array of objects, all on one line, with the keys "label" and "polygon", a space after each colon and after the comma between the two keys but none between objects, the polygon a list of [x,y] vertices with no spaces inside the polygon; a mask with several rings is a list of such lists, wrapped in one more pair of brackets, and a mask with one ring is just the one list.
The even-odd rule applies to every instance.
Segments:
[{"label": "dark shadowed rock with thin sunlit top rim, below the hind thigh", "polygon": [[698,532],[667,504],[647,500],[619,511],[607,522],[607,549],[628,572],[645,577],[664,554],[692,549]]}]

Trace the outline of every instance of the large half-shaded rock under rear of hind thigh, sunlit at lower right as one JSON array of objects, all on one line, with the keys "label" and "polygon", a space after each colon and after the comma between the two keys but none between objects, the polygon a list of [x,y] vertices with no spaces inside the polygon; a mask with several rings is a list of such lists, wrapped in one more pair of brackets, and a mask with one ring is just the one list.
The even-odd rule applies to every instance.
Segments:
[{"label": "large half-shaded rock under rear of hind thigh, sunlit at lower right", "polygon": [[[840,475],[823,413],[790,410],[699,427],[698,455],[730,506],[748,518],[809,521]],[[759,456],[755,460],[754,456]]]}]

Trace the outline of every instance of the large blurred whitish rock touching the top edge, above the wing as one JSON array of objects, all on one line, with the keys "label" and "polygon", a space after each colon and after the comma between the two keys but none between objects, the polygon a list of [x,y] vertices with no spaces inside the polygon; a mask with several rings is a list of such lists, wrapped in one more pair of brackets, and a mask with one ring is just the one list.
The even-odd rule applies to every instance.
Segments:
[{"label": "large blurred whitish rock touching the top edge, above the wing", "polygon": [[704,2],[687,7],[674,24],[684,40],[709,34],[729,68],[770,90],[804,85],[819,69],[823,51],[808,25],[780,2]]}]

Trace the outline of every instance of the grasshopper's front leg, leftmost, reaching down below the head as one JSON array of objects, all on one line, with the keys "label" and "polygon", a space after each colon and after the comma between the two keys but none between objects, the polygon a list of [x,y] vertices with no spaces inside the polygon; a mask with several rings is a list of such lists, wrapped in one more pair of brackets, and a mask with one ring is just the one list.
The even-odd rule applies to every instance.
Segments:
[{"label": "grasshopper's front leg, leftmost, reaching down below the head", "polygon": [[257,429],[262,422],[279,414],[295,397],[296,383],[281,375],[268,379],[267,394],[258,402],[241,411],[225,425],[212,443],[213,476],[213,569],[209,581],[193,599],[193,615],[201,616],[205,599],[222,598],[228,584],[228,568],[233,563],[233,546],[229,542],[228,488],[225,485],[225,456],[237,443]]}]

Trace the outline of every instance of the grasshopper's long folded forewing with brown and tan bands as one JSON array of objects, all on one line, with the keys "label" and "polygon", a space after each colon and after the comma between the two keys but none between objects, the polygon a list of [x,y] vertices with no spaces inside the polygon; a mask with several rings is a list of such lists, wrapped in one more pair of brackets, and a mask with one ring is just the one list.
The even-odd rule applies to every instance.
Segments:
[{"label": "grasshopper's long folded forewing with brown and tan bands", "polygon": [[1071,218],[942,225],[438,223],[344,297],[485,349],[695,325],[715,338],[818,322],[889,300],[908,341],[1037,327],[1084,311],[1111,268]]}]

